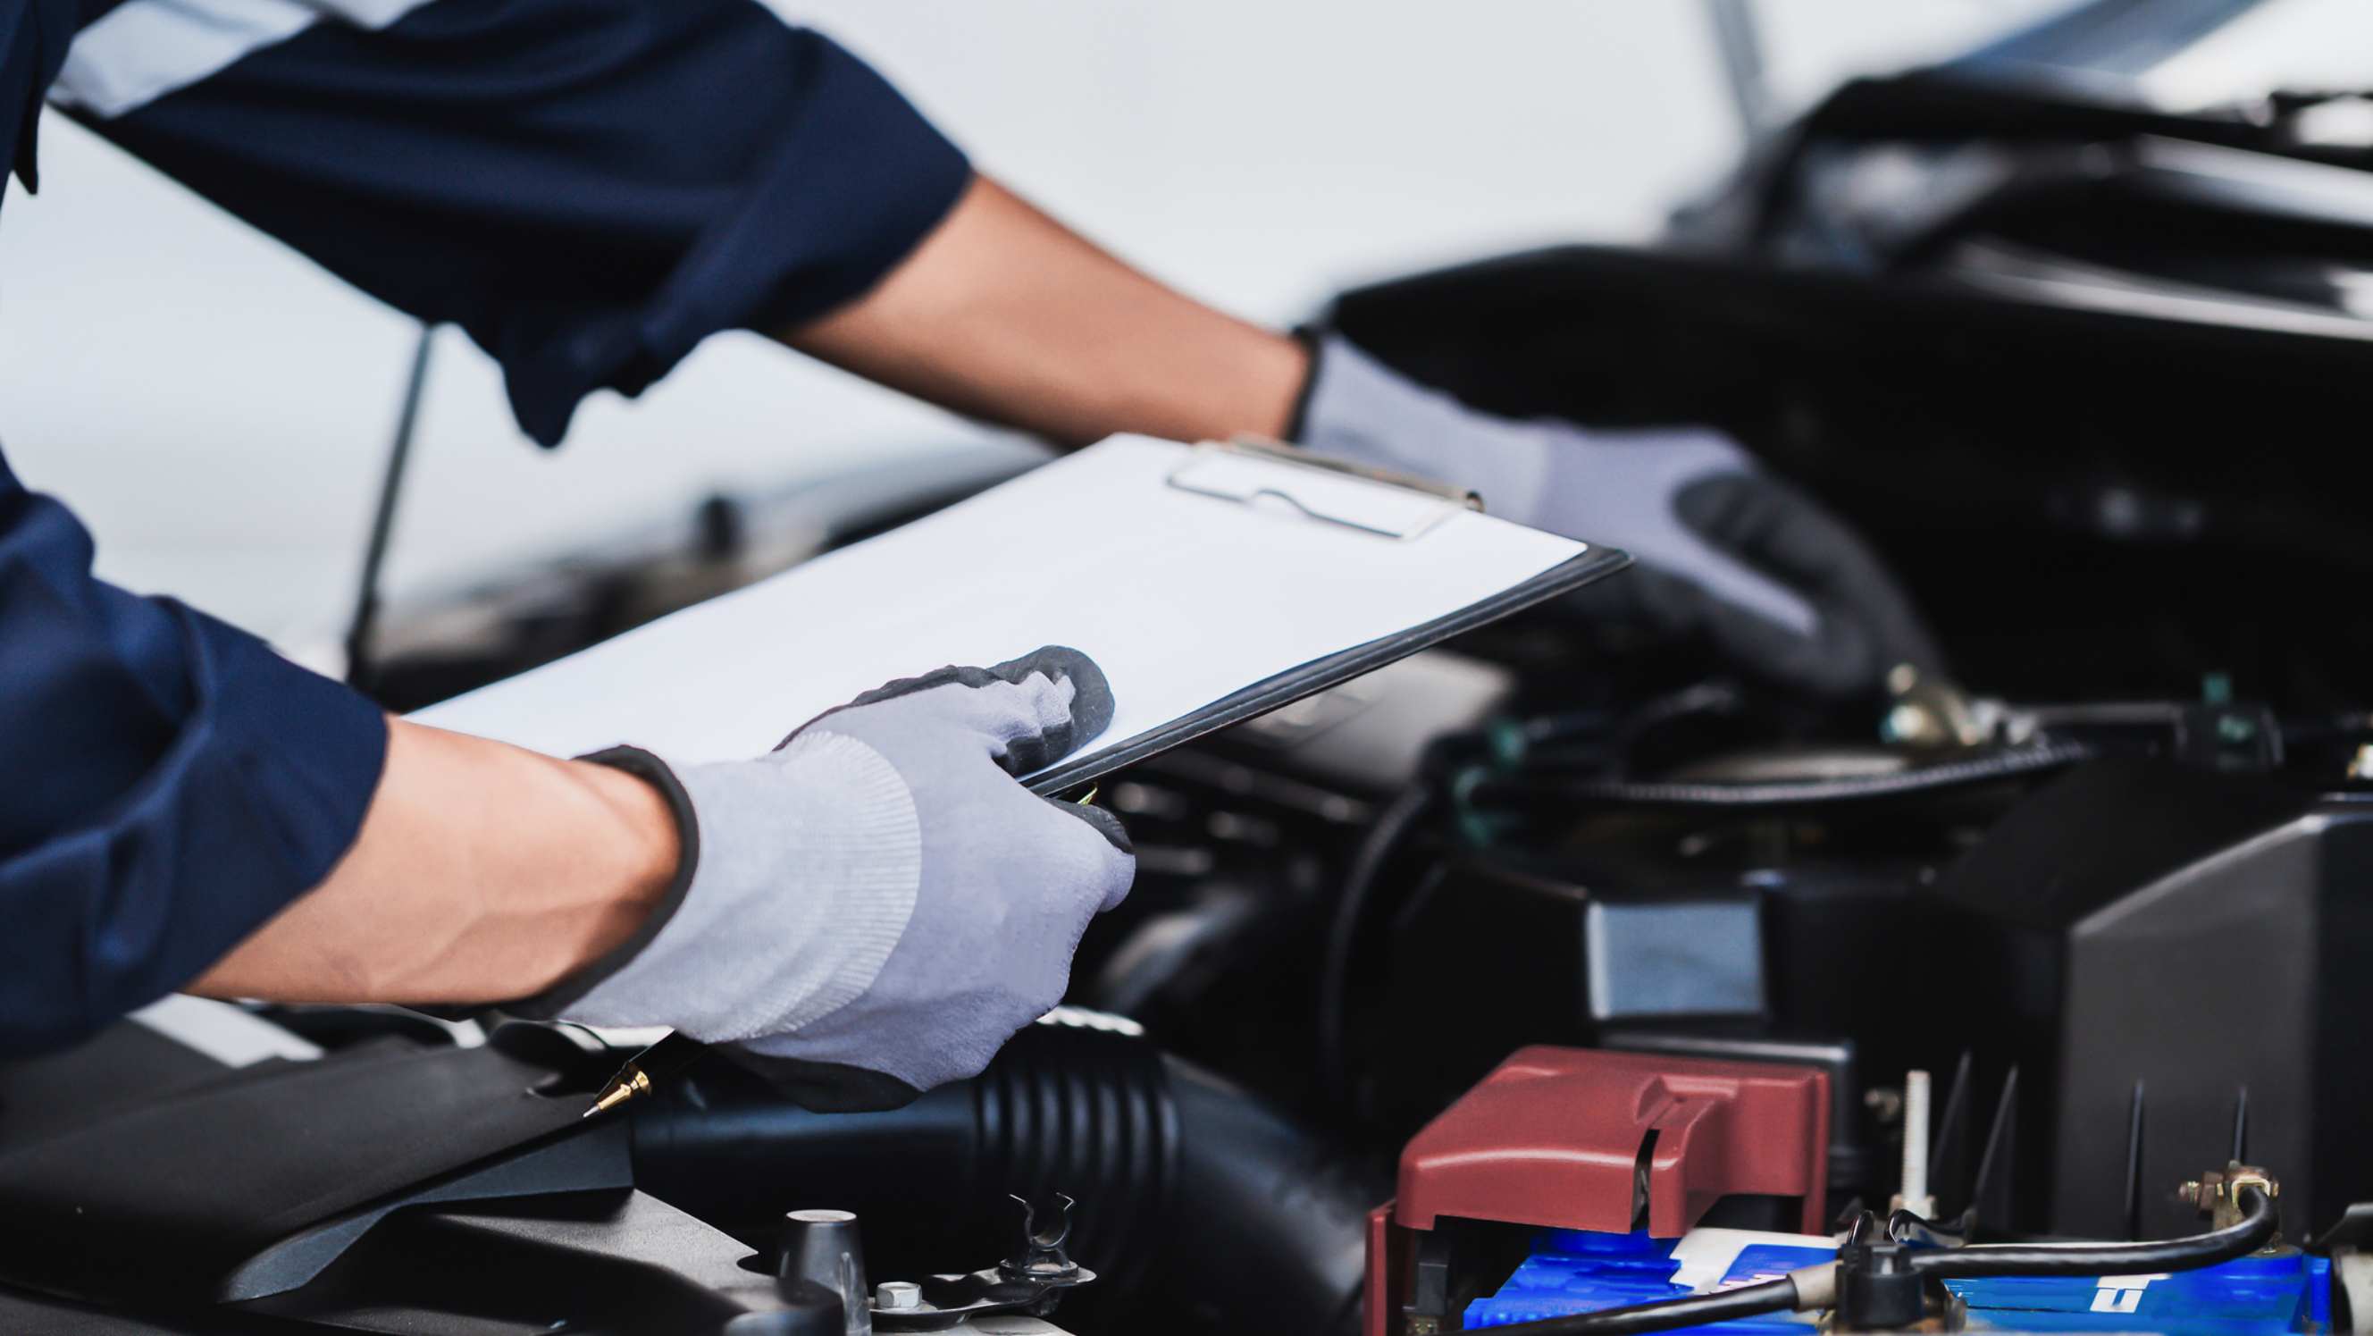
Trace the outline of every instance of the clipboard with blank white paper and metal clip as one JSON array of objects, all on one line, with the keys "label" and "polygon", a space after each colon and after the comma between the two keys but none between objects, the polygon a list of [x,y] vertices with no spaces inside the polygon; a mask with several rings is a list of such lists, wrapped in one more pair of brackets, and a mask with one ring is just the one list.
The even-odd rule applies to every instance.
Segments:
[{"label": "clipboard with blank white paper and metal clip", "polygon": [[1118,702],[1106,736],[1023,776],[1056,795],[1626,565],[1464,489],[1265,441],[1113,437],[413,719],[729,762],[883,681],[1056,643]]}]

